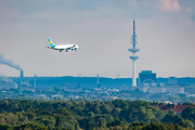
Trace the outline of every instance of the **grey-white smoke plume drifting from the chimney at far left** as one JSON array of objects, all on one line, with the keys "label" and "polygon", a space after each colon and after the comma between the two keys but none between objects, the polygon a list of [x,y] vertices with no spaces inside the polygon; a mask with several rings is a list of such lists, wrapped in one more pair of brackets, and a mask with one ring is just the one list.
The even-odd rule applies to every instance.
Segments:
[{"label": "grey-white smoke plume drifting from the chimney at far left", "polygon": [[15,64],[13,61],[11,60],[6,60],[4,57],[4,54],[3,53],[0,53],[0,64],[4,64],[4,65],[8,65],[10,67],[13,67],[17,70],[23,70],[23,68],[18,65],[18,64]]}]

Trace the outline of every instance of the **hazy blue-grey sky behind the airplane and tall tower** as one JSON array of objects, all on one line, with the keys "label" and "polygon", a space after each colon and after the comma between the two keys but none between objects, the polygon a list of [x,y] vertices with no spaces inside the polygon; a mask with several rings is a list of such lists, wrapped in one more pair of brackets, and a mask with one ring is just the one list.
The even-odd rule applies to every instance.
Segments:
[{"label": "hazy blue-grey sky behind the airplane and tall tower", "polygon": [[[132,78],[133,12],[136,77],[195,77],[195,0],[1,0],[0,54],[28,77]],[[79,49],[47,49],[49,37]],[[0,74],[20,70],[0,64]]]}]

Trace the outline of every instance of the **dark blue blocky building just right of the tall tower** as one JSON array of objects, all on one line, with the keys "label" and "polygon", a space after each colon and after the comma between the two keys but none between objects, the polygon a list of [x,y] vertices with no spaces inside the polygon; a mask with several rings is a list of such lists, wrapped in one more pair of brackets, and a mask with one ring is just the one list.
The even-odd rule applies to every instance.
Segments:
[{"label": "dark blue blocky building just right of the tall tower", "polygon": [[139,73],[139,84],[141,87],[156,87],[156,74],[152,70]]}]

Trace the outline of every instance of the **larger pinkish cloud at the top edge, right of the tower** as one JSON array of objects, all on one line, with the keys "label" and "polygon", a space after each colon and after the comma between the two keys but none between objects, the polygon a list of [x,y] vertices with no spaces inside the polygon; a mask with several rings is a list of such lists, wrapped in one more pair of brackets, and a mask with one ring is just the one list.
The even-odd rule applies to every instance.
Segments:
[{"label": "larger pinkish cloud at the top edge, right of the tower", "polygon": [[181,8],[178,0],[157,0],[157,8],[167,12],[180,12]]}]

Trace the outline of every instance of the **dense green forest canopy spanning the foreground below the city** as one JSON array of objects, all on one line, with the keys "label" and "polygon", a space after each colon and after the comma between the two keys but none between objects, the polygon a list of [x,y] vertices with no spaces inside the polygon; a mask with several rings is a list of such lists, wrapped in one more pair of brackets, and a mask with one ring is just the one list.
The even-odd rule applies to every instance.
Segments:
[{"label": "dense green forest canopy spanning the foreground below the city", "polygon": [[31,101],[0,100],[0,130],[78,130],[192,129],[195,108],[187,107],[179,116],[164,113],[145,101]]}]

